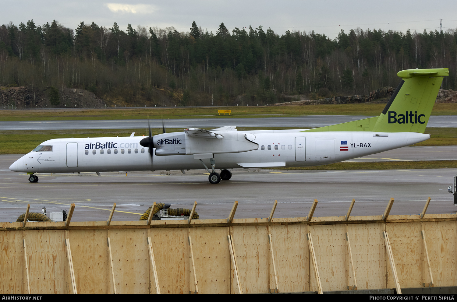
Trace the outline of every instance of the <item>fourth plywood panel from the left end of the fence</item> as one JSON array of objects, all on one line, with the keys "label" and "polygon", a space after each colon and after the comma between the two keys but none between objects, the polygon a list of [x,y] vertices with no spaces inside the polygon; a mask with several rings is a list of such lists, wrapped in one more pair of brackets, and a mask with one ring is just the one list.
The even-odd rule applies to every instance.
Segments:
[{"label": "fourth plywood panel from the left end of the fence", "polygon": [[117,293],[149,293],[147,230],[110,230],[109,236]]}]

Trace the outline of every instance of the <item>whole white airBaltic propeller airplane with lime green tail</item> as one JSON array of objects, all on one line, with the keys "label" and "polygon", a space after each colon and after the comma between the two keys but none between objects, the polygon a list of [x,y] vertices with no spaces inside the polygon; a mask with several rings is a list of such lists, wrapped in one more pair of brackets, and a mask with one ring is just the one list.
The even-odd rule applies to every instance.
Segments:
[{"label": "whole white airBaltic propeller airplane with lime green tail", "polygon": [[[206,169],[209,182],[230,180],[234,168],[331,164],[419,143],[448,69],[408,69],[382,113],[314,129],[237,131],[234,126],[149,137],[60,138],[41,143],[11,171],[36,173]],[[323,105],[324,106],[324,105]],[[221,169],[217,173],[215,168]],[[211,170],[208,168],[211,168]]]}]

